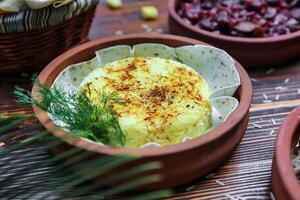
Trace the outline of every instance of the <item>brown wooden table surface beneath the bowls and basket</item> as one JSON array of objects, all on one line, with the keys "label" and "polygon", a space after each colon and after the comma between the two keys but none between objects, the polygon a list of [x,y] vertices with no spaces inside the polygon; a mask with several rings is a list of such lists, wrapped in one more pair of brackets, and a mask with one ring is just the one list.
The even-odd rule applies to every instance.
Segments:
[{"label": "brown wooden table surface beneath the bowls and basket", "polygon": [[[140,18],[140,7],[146,4],[159,9],[158,20],[143,21]],[[152,31],[169,33],[167,19],[165,0],[127,0],[122,9],[114,11],[102,4],[97,9],[90,38]],[[207,177],[175,188],[175,195],[171,199],[271,199],[271,163],[276,132],[288,112],[300,105],[300,60],[278,69],[262,66],[248,72],[254,91],[250,122],[241,144],[223,165]],[[17,106],[12,94],[15,85],[30,89],[31,75],[0,76],[0,111],[31,113],[31,108]],[[2,148],[5,148],[9,138],[0,136],[1,142],[4,143]],[[14,166],[15,170],[21,170],[27,162],[20,161],[20,165]],[[45,171],[44,177],[51,181],[48,173]]]}]

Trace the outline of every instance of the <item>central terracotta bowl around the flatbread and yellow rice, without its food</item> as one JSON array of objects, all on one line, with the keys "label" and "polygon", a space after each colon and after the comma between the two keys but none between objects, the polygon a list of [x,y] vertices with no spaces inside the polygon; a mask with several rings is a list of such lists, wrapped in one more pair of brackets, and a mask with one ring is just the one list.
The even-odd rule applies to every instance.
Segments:
[{"label": "central terracotta bowl around the flatbread and yellow rice, without its food", "polygon": [[[113,36],[91,41],[67,51],[53,60],[40,73],[39,79],[42,83],[52,84],[57,75],[68,65],[93,58],[94,52],[99,49],[114,45],[134,45],[145,42],[162,43],[172,47],[204,44],[197,40],[173,35],[132,34]],[[241,77],[241,86],[235,94],[240,101],[237,109],[219,127],[204,136],[185,143],[161,148],[131,149],[103,147],[82,139],[73,141],[66,137],[66,132],[57,129],[53,131],[56,126],[53,123],[45,123],[50,119],[41,109],[34,107],[34,112],[38,115],[38,119],[44,127],[52,131],[55,136],[65,140],[63,145],[53,149],[55,153],[59,154],[72,146],[76,146],[92,152],[94,157],[122,154],[139,155],[139,158],[128,166],[115,169],[111,173],[117,174],[133,165],[159,161],[162,168],[158,170],[158,173],[162,175],[162,179],[155,184],[147,185],[143,189],[177,186],[196,179],[220,165],[234,151],[245,133],[249,119],[252,85],[247,73],[238,62],[236,62],[236,68]],[[34,95],[37,94],[35,86],[32,92]],[[73,167],[73,169],[76,170],[76,167]]]}]

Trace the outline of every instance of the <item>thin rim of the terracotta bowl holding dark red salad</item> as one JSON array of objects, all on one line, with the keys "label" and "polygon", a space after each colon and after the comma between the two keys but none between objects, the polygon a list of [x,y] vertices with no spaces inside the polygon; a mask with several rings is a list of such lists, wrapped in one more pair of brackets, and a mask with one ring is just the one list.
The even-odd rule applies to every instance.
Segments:
[{"label": "thin rim of the terracotta bowl holding dark red salad", "polygon": [[273,37],[262,37],[262,38],[245,38],[245,37],[235,37],[235,36],[228,36],[228,35],[223,35],[223,34],[217,34],[217,33],[212,33],[210,31],[206,31],[201,28],[197,28],[191,24],[186,23],[176,12],[175,10],[175,3],[178,0],[169,0],[168,2],[168,10],[170,17],[172,17],[177,23],[179,23],[181,26],[185,27],[186,29],[189,29],[193,31],[194,33],[205,35],[210,38],[218,39],[218,40],[225,40],[228,42],[240,42],[240,43],[271,43],[271,42],[283,42],[286,40],[290,40],[293,38],[300,37],[300,30],[293,32],[293,33],[288,33],[284,35],[279,35],[279,36],[273,36]]}]

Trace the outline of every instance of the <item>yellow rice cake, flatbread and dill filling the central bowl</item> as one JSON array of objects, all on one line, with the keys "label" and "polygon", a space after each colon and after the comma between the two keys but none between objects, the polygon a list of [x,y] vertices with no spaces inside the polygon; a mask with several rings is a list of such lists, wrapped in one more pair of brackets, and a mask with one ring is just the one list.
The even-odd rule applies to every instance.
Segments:
[{"label": "yellow rice cake, flatbread and dill filling the central bowl", "polygon": [[33,103],[81,138],[108,146],[160,147],[223,123],[238,105],[232,96],[239,85],[235,62],[223,50],[119,45],[65,68],[51,88],[42,85],[42,103]]}]

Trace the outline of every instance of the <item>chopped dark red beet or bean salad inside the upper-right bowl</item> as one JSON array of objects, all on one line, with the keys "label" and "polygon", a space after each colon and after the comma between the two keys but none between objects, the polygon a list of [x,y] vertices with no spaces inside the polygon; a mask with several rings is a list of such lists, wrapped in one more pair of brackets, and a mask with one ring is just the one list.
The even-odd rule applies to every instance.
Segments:
[{"label": "chopped dark red beet or bean salad inside the upper-right bowl", "polygon": [[300,30],[300,1],[179,0],[176,11],[201,29],[237,37],[272,37]]}]

